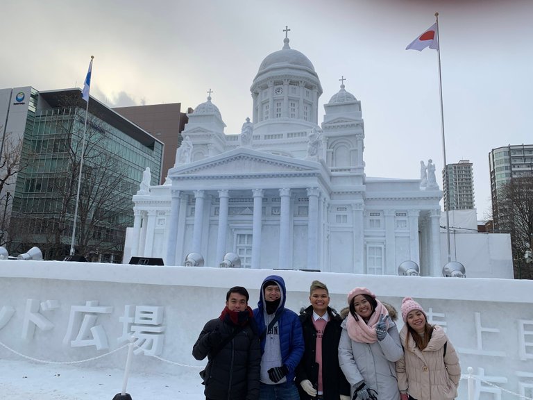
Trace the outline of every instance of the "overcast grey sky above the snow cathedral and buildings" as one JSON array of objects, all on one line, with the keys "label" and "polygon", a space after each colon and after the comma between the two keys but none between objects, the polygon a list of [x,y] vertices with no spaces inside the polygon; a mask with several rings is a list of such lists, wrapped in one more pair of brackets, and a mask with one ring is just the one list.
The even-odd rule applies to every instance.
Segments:
[{"label": "overcast grey sky above the snow cathedral and buildings", "polygon": [[303,52],[323,103],[339,90],[362,101],[367,176],[419,178],[443,167],[437,51],[405,51],[439,12],[446,159],[474,165],[478,218],[491,207],[488,153],[531,144],[531,0],[4,0],[0,88],[81,87],[109,106],[212,101],[239,133],[252,114],[261,61]]}]

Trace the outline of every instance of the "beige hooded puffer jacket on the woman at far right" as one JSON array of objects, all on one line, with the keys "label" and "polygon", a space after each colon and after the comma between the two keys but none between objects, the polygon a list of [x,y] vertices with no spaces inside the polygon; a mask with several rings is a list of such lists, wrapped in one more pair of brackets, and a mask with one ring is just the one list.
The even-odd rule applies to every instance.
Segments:
[{"label": "beige hooded puffer jacket on the woman at far right", "polygon": [[434,326],[430,342],[423,350],[418,349],[410,337],[406,347],[407,335],[409,331],[406,324],[400,331],[405,347],[404,356],[396,363],[400,391],[409,393],[416,400],[455,399],[461,367],[459,357],[443,328]]}]

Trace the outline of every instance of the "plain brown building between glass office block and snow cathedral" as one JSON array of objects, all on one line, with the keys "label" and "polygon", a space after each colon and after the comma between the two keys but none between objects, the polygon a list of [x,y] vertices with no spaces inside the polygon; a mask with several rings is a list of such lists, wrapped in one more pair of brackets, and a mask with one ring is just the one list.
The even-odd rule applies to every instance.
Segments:
[{"label": "plain brown building between glass office block and snow cathedral", "polygon": [[[164,143],[162,175],[160,176],[160,183],[164,183],[169,168],[174,167],[176,149],[180,147],[183,140],[181,131],[189,121],[187,114],[181,112],[181,103],[117,107],[113,110]],[[192,113],[192,111],[192,108],[187,108],[187,113]]]}]

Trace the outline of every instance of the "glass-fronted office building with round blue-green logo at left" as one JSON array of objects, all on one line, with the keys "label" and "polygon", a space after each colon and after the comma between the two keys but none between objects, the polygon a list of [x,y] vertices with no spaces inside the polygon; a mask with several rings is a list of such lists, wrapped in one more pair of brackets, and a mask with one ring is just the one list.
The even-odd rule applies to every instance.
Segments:
[{"label": "glass-fronted office building with round blue-green logo at left", "polygon": [[164,144],[92,97],[84,128],[86,105],[78,88],[0,90],[0,154],[18,157],[17,174],[0,188],[1,245],[14,255],[33,246],[45,259],[68,255],[78,198],[76,252],[118,262],[146,167],[159,183]]}]

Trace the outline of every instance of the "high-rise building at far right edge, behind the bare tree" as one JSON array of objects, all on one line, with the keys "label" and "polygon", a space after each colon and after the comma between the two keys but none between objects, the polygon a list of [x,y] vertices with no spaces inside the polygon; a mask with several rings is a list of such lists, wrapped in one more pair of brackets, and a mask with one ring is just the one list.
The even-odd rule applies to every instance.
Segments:
[{"label": "high-rise building at far right edge, behind the bare tree", "polygon": [[502,185],[514,179],[533,178],[533,144],[509,144],[492,149],[489,153],[491,198],[494,232],[504,224],[499,212],[499,191]]}]

